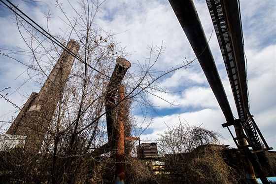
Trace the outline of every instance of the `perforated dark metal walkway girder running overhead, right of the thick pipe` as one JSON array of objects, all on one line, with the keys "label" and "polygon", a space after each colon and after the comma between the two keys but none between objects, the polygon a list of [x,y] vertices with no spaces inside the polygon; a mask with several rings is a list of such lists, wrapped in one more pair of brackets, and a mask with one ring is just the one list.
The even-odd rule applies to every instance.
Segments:
[{"label": "perforated dark metal walkway girder running overhead, right of the thick pipe", "polygon": [[[239,118],[247,141],[254,150],[262,149],[256,125],[248,118],[248,95],[242,41],[242,26],[237,0],[206,0],[231,84]],[[265,142],[265,140],[263,140]]]}]

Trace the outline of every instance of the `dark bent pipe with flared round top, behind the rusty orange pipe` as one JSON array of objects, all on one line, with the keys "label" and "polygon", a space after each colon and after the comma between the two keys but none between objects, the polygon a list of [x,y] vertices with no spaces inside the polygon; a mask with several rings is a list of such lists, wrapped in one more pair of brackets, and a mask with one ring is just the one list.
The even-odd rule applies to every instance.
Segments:
[{"label": "dark bent pipe with flared round top, behind the rusty orange pipe", "polygon": [[131,64],[128,60],[118,57],[117,63],[114,68],[114,71],[110,77],[110,80],[107,84],[105,91],[105,111],[106,111],[106,126],[107,126],[107,136],[108,142],[111,145],[114,145],[114,122],[115,114],[113,109],[115,107],[115,94],[118,88],[121,85],[121,82],[127,73],[127,70],[131,67]]}]

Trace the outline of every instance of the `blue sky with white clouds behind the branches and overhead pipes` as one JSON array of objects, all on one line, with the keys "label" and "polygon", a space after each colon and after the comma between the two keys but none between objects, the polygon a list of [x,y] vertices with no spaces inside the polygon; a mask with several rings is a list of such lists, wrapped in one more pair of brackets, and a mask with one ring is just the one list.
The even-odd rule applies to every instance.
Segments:
[{"label": "blue sky with white clouds behind the branches and overhead pipes", "polygon": [[[12,0],[12,2],[18,4],[21,10],[44,27],[47,22],[44,13],[50,12],[49,30],[53,35],[62,35],[67,31],[64,17],[56,8],[54,0]],[[59,2],[63,3],[63,8],[69,16],[75,16],[67,0]],[[79,8],[78,3],[72,0],[70,2],[75,8]],[[195,0],[194,3],[206,37],[210,38],[209,45],[232,111],[234,116],[238,117],[217,39],[214,33],[212,34],[213,25],[206,1]],[[276,0],[261,2],[241,0],[241,14],[248,67],[250,111],[269,146],[276,148]],[[16,50],[25,46],[12,17],[11,12],[0,7],[1,53],[4,52],[3,49]],[[192,48],[167,0],[106,0],[101,5],[94,23],[95,27],[118,33],[115,39],[121,47],[126,47],[126,51],[131,53],[126,59],[133,64],[144,61],[149,56],[147,49],[149,46],[159,47],[162,43],[166,47],[165,52],[158,59],[155,70],[168,70],[182,65],[186,60],[195,59]],[[26,59],[24,56],[19,58]],[[26,79],[25,70],[21,64],[0,56],[0,90],[10,87],[1,94],[9,93],[8,98],[20,105],[25,103],[26,98],[22,99],[19,94],[28,97],[33,91],[38,90],[32,82],[21,86]],[[135,72],[132,71],[135,68],[129,70]],[[141,139],[157,139],[158,134],[167,130],[166,124],[177,125],[180,119],[190,125],[202,124],[209,130],[220,132],[226,138],[222,142],[234,147],[228,130],[221,126],[225,123],[225,118],[197,60],[187,69],[182,68],[161,78],[160,86],[175,93],[156,93],[156,95],[173,102],[175,106],[150,96],[155,111],[150,112],[153,117],[152,124],[140,136]],[[14,111],[15,107],[0,99],[0,121],[3,121],[0,126],[1,132],[8,128],[9,123],[5,121],[16,115]]]}]

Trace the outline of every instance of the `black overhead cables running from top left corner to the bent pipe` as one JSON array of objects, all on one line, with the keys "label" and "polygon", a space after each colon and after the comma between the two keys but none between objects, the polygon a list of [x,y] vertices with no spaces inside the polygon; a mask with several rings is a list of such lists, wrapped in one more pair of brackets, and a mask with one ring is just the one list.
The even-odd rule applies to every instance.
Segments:
[{"label": "black overhead cables running from top left corner to the bent pipe", "polygon": [[[18,10],[20,13],[22,13],[27,19],[29,19],[30,21],[32,21],[39,29],[41,29],[42,31],[40,31],[38,28],[36,28],[32,23],[30,23],[28,20],[26,20],[22,15],[20,15],[17,11],[15,11],[11,6],[9,6],[8,4],[6,4],[5,2],[3,2],[3,0],[0,0],[4,5],[6,5],[10,10],[12,10],[16,15],[18,15],[19,17],[21,17],[25,22],[27,22],[29,25],[31,25],[36,31],[38,31],[39,33],[41,33],[43,36],[47,37],[48,39],[50,39],[51,41],[53,41],[55,44],[57,44],[58,46],[60,46],[61,48],[63,48],[64,50],[66,50],[71,56],[73,56],[74,58],[76,58],[77,60],[79,60],[80,62],[82,62],[83,64],[87,65],[88,67],[90,67],[91,69],[93,69],[94,71],[98,72],[99,74],[102,74],[108,78],[110,78],[109,76],[107,76],[106,74],[98,71],[97,69],[95,69],[94,67],[92,67],[91,65],[89,65],[88,63],[86,63],[85,61],[83,61],[80,57],[78,57],[76,54],[72,53],[66,46],[64,46],[59,40],[57,40],[55,37],[53,37],[50,33],[48,33],[46,30],[44,30],[41,26],[39,26],[33,19],[31,19],[28,15],[26,15],[23,11],[21,11],[19,8],[17,8],[12,2],[10,2],[9,0],[6,0],[11,6],[13,6],[16,10]],[[47,35],[49,36],[47,36]],[[54,39],[54,40],[53,40]]]}]

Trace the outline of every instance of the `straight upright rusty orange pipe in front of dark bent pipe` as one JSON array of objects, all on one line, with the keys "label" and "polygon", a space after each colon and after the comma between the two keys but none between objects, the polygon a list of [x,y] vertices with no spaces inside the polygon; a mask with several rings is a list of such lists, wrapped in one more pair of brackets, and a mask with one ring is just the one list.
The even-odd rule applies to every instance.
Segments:
[{"label": "straight upright rusty orange pipe in front of dark bent pipe", "polygon": [[118,105],[118,121],[117,121],[117,142],[116,142],[116,164],[115,164],[115,184],[124,184],[125,182],[125,88],[121,85],[118,89],[117,101],[121,102]]}]

